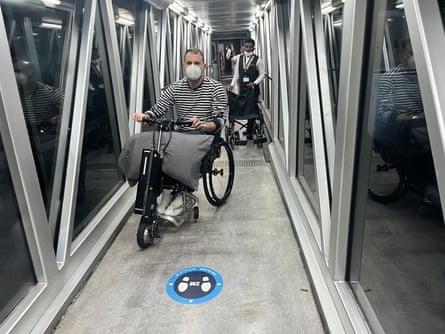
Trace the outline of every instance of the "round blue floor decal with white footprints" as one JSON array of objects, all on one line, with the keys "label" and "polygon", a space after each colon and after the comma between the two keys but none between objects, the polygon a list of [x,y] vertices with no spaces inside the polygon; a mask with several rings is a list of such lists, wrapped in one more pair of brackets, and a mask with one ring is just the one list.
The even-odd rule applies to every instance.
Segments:
[{"label": "round blue floor decal with white footprints", "polygon": [[216,297],[222,290],[223,280],[215,270],[190,267],[174,274],[167,283],[167,293],[183,304],[200,304]]}]

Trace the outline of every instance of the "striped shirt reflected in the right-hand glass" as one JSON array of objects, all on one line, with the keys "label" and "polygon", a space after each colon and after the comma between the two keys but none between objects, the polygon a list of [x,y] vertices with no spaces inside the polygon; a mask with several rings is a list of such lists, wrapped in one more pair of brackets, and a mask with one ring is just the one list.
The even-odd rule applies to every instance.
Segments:
[{"label": "striped shirt reflected in the right-hand glass", "polygon": [[422,96],[415,70],[399,65],[379,80],[377,117],[387,124],[400,114],[423,112]]}]

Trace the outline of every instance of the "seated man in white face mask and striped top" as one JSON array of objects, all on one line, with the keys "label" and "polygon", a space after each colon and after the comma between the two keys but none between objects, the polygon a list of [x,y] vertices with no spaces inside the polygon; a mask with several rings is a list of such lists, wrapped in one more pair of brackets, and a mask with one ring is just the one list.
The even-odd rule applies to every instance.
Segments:
[{"label": "seated man in white face mask and striped top", "polygon": [[[188,49],[183,63],[185,78],[163,89],[157,103],[144,113],[135,113],[133,119],[141,122],[165,114],[174,115],[177,119],[190,121],[189,125],[181,127],[181,132],[194,135],[217,133],[224,125],[227,94],[220,82],[204,75],[205,69],[202,51]],[[164,189],[158,200],[158,214],[182,215],[186,198],[183,193]]]}]

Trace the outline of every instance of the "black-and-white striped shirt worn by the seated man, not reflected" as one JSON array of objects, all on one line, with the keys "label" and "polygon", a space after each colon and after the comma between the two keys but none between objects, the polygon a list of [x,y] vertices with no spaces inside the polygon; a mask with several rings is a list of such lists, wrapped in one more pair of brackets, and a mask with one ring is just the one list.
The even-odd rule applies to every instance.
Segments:
[{"label": "black-and-white striped shirt worn by the seated man, not reflected", "polygon": [[219,81],[204,77],[201,85],[192,89],[184,78],[165,88],[158,102],[147,112],[156,117],[170,112],[181,119],[212,120],[218,129],[224,124],[227,104],[226,90]]}]

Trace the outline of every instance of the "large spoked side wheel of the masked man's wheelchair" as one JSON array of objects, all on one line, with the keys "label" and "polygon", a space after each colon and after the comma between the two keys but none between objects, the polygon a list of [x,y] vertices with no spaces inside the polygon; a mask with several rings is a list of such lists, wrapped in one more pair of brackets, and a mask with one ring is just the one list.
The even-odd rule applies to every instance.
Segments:
[{"label": "large spoked side wheel of the masked man's wheelchair", "polygon": [[204,193],[211,205],[220,206],[232,192],[235,162],[229,145],[221,140],[212,148],[212,161],[204,173]]}]

